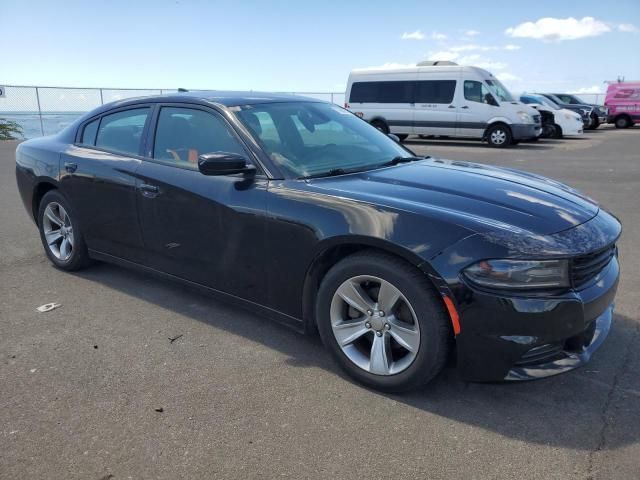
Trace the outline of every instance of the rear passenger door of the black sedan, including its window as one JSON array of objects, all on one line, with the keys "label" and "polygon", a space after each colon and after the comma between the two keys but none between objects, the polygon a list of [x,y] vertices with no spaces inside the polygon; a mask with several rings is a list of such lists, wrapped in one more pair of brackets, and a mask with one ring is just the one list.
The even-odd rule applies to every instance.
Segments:
[{"label": "rear passenger door of the black sedan, including its window", "polygon": [[60,158],[60,188],[76,211],[88,247],[133,261],[143,247],[135,174],[150,112],[149,105],[135,105],[90,119]]}]

